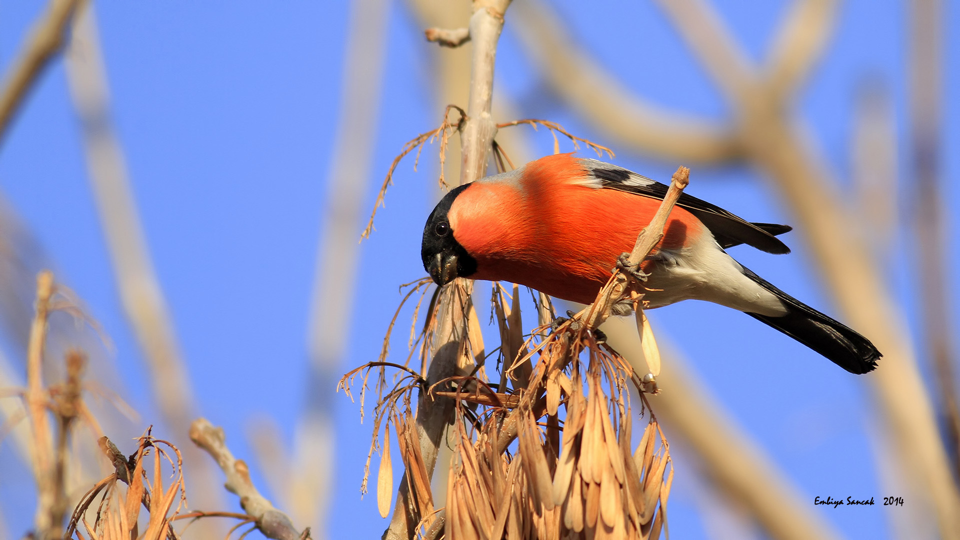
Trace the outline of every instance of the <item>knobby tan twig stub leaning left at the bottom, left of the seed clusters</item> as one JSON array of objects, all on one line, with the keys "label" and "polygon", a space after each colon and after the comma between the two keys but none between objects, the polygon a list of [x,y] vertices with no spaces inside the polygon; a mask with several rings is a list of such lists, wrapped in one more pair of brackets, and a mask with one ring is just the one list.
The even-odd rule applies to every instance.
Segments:
[{"label": "knobby tan twig stub leaning left at the bottom, left of the seed clusters", "polygon": [[227,490],[240,498],[240,506],[264,536],[276,540],[310,538],[310,528],[299,532],[286,514],[260,495],[250,479],[247,464],[233,457],[227,448],[227,435],[222,428],[214,428],[205,418],[198,418],[190,425],[190,439],[217,461],[227,475]]}]

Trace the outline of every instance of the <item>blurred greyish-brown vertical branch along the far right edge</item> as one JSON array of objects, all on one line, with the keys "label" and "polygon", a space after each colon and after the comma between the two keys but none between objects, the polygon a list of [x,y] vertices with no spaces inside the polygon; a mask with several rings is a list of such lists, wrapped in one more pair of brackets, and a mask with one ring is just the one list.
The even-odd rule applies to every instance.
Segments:
[{"label": "blurred greyish-brown vertical branch along the far right edge", "polygon": [[[910,167],[914,226],[920,253],[917,280],[922,301],[918,326],[936,380],[939,420],[960,479],[960,410],[957,404],[953,317],[948,307],[947,216],[941,188],[945,7],[940,0],[910,3]],[[954,509],[960,514],[960,507]]]}]

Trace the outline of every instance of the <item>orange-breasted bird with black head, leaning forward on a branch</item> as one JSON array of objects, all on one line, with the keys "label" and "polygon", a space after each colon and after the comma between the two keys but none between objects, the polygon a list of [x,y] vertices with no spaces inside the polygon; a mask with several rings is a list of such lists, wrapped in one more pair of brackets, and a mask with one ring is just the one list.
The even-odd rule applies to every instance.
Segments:
[{"label": "orange-breasted bird with black head, leaning forward on a branch", "polygon": [[[438,285],[504,281],[590,304],[650,223],[667,186],[600,160],[555,154],[446,193],[423,228],[420,258]],[[789,335],[853,374],[876,368],[873,343],[757,276],[728,253],[747,244],[790,249],[787,225],[750,223],[686,193],[639,271],[643,305],[703,300],[732,307]],[[614,314],[627,315],[626,302]]]}]

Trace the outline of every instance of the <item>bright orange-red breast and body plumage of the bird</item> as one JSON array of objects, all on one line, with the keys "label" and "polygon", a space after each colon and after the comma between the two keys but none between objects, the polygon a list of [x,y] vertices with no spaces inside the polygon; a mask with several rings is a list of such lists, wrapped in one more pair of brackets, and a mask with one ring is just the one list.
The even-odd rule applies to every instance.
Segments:
[{"label": "bright orange-red breast and body plumage of the bird", "polygon": [[[457,198],[450,225],[477,259],[471,278],[589,304],[659,207],[649,197],[569,182],[480,183]],[[703,231],[700,220],[675,207],[655,250],[682,247]]]}]

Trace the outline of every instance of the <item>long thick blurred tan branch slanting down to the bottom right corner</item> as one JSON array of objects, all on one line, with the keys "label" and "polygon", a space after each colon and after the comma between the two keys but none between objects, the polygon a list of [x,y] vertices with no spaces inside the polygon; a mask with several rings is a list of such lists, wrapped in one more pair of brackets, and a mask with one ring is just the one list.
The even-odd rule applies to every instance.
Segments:
[{"label": "long thick blurred tan branch slanting down to the bottom right corner", "polygon": [[[826,163],[809,146],[796,123],[780,107],[778,96],[756,83],[729,81],[734,64],[744,64],[716,17],[703,16],[699,0],[660,0],[664,10],[689,41],[717,83],[727,89],[737,115],[740,138],[751,161],[780,188],[793,214],[808,235],[832,297],[852,327],[869,336],[883,352],[879,369],[867,380],[893,433],[918,509],[935,516],[944,538],[960,538],[960,493],[953,481],[940,439],[933,406],[917,369],[916,358],[900,320],[899,309],[877,272],[869,252],[853,233],[850,213],[843,208],[837,183]],[[925,194],[924,194],[925,196]]]}]

